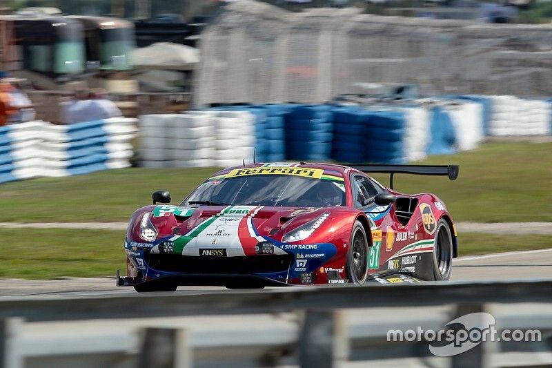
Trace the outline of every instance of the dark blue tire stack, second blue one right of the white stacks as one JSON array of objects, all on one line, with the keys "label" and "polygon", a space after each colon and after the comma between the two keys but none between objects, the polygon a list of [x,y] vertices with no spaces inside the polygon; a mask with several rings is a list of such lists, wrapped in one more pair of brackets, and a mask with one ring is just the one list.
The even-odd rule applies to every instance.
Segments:
[{"label": "dark blue tire stack, second blue one right of the white stacks", "polygon": [[295,106],[286,115],[286,159],[326,160],[331,155],[333,106]]}]

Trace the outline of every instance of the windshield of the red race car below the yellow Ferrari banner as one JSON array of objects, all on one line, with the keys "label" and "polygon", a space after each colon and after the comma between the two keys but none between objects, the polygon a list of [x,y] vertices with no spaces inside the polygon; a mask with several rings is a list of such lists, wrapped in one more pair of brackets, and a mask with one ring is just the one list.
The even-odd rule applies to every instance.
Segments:
[{"label": "windshield of the red race car below the yellow Ferrari banner", "polygon": [[326,207],[345,205],[343,178],[313,179],[293,175],[212,177],[181,206],[189,204]]}]

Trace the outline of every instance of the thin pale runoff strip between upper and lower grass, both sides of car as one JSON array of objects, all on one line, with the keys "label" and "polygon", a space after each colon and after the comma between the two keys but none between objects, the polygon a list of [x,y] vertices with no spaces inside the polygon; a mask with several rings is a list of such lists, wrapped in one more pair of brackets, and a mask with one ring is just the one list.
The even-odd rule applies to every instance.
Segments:
[{"label": "thin pale runoff strip between upper and lower grass, both sides of car", "polygon": [[[126,230],[126,222],[0,222],[0,228]],[[456,222],[456,229],[498,235],[552,235],[552,222]]]}]

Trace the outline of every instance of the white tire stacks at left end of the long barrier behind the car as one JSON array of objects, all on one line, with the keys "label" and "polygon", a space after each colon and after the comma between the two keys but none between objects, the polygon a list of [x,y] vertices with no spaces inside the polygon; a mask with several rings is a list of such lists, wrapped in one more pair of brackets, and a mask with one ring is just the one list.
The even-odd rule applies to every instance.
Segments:
[{"label": "white tire stacks at left end of the long barrier behind the car", "polygon": [[221,108],[140,117],[141,166],[233,166],[253,158],[256,115]]}]

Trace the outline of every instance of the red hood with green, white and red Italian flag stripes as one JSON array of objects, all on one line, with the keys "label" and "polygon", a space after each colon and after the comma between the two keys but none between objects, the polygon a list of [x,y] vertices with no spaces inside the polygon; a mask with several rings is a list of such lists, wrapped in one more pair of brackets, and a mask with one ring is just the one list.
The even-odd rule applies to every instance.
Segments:
[{"label": "red hood with green, white and red Italian flag stripes", "polygon": [[[158,234],[152,253],[200,255],[202,251],[224,249],[224,256],[255,255],[259,242],[281,242],[286,231],[315,220],[327,210],[328,207],[146,206],[135,213],[131,226],[133,233],[139,233],[141,213],[149,214]],[[275,253],[284,251],[277,249]]]}]

